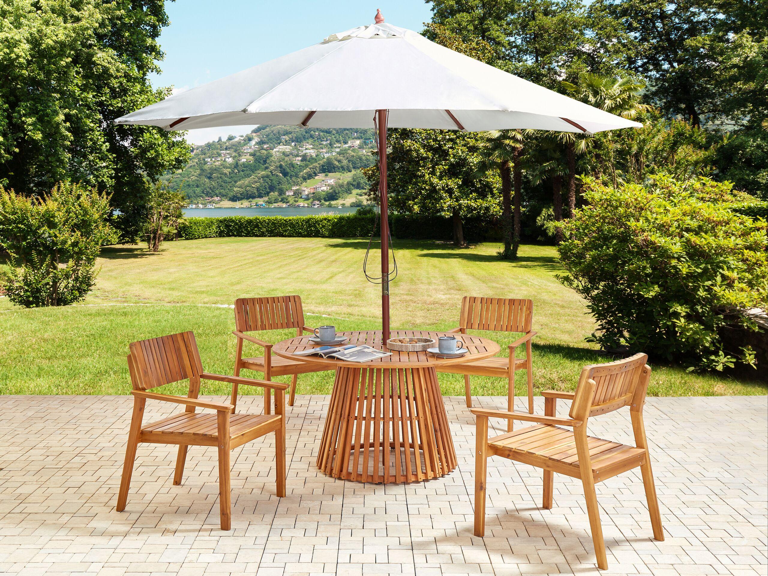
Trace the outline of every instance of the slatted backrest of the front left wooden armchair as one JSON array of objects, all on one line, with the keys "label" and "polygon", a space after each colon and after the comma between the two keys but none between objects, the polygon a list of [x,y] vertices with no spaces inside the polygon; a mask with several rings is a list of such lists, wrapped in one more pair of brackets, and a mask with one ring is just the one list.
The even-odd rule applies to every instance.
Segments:
[{"label": "slatted backrest of the front left wooden armchair", "polygon": [[139,340],[129,346],[128,369],[136,390],[198,378],[203,373],[194,334],[181,332]]}]

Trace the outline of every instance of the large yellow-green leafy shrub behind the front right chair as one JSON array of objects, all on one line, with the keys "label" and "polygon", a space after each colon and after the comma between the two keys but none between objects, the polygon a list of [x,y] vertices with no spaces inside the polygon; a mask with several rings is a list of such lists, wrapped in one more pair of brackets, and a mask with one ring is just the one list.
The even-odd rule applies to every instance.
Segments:
[{"label": "large yellow-green leafy shrub behind the front right chair", "polygon": [[587,205],[564,225],[560,276],[588,302],[601,348],[723,369],[752,363],[728,350],[727,327],[756,330],[766,306],[766,222],[737,214],[728,183],[652,177],[613,188],[584,179]]}]

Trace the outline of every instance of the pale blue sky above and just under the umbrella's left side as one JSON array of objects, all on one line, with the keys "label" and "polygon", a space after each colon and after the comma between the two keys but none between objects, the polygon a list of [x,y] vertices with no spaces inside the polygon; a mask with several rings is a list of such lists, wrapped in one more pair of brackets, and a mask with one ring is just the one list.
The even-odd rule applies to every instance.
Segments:
[{"label": "pale blue sky above and just under the umbrella's left side", "polygon": [[[154,86],[194,88],[250,68],[278,56],[306,48],[326,36],[359,25],[372,24],[376,8],[386,22],[415,31],[431,16],[423,0],[178,0],[166,2],[170,26],[160,44],[165,51],[162,74]],[[205,128],[187,133],[187,140],[203,144],[227,134],[243,134],[249,127]]]}]

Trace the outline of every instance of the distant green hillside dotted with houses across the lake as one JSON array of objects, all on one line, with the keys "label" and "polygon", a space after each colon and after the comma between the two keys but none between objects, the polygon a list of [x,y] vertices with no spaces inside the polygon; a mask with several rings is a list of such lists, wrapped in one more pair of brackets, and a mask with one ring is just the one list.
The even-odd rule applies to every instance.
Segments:
[{"label": "distant green hillside dotted with houses across the lake", "polygon": [[360,205],[373,151],[370,130],[259,126],[193,146],[164,179],[194,207]]}]

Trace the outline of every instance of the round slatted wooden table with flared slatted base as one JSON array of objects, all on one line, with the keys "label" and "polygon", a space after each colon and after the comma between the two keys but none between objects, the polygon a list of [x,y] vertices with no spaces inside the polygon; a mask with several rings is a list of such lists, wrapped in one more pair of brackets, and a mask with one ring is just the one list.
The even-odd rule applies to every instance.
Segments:
[{"label": "round slatted wooden table with flared slatted base", "polygon": [[[315,347],[311,336],[296,336],[272,348],[283,358],[336,369],[317,467],[333,478],[375,483],[422,482],[451,472],[457,465],[456,453],[435,366],[494,356],[498,344],[479,336],[454,334],[469,352],[445,359],[426,352],[385,349],[381,331],[339,334],[349,336],[344,346],[367,344],[392,355],[371,362],[343,362],[293,354]],[[398,330],[390,337],[437,340],[444,335]]]}]

